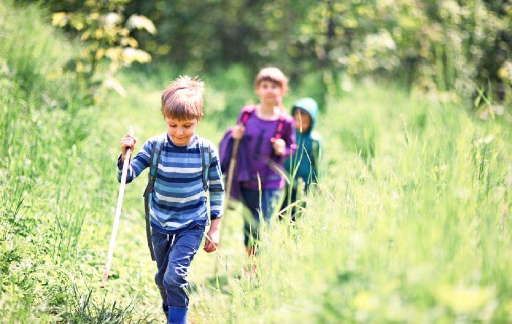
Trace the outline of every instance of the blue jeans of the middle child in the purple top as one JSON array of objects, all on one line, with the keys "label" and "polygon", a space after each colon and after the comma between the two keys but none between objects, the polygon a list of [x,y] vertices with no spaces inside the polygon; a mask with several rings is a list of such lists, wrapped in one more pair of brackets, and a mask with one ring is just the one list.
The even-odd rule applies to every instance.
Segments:
[{"label": "blue jeans of the middle child in the purple top", "polygon": [[270,218],[278,203],[281,190],[279,189],[265,189],[261,190],[261,206],[260,206],[260,191],[241,188],[244,205],[250,210],[252,219],[244,217],[244,244],[246,247],[252,247],[258,242],[259,229],[260,229],[260,210],[263,220],[267,225],[270,224]]}]

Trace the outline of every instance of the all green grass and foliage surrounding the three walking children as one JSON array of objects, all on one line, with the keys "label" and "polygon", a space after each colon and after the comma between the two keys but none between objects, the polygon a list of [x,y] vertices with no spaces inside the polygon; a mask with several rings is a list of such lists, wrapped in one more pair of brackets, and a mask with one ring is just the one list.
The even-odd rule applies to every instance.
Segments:
[{"label": "all green grass and foliage surrounding the three walking children", "polygon": [[99,290],[119,137],[161,132],[160,94],[187,73],[218,143],[275,64],[285,107],[325,99],[329,177],[266,232],[258,276],[239,275],[240,206],[226,215],[219,276],[214,254],[190,270],[191,322],[512,322],[510,17],[510,1],[0,0],[0,321],[162,322],[145,179]]}]

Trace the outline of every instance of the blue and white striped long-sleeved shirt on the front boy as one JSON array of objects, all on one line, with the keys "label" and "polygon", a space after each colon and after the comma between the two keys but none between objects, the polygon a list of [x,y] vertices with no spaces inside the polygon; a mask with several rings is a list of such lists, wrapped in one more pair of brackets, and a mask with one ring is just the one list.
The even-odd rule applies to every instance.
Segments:
[{"label": "blue and white striped long-sleeved shirt on the front boy", "polygon": [[[165,138],[162,144],[155,187],[150,200],[151,227],[162,234],[177,231],[197,224],[208,223],[206,196],[203,188],[203,167],[198,136],[194,135],[187,146],[176,146],[167,134],[157,135],[144,143],[140,152],[130,161],[126,183],[150,166],[150,156],[157,139]],[[202,142],[209,142],[201,138]],[[210,192],[210,218],[223,214],[224,187],[217,149],[211,142],[211,160],[208,171]],[[121,180],[122,164],[117,163],[117,179]]]}]

